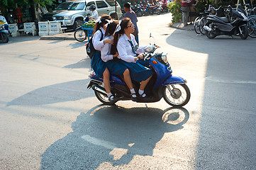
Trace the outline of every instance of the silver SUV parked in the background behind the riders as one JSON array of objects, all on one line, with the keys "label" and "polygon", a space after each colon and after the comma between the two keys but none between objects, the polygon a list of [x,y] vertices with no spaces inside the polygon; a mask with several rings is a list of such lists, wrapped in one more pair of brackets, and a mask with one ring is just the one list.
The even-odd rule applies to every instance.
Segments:
[{"label": "silver SUV parked in the background behind the riders", "polygon": [[96,6],[99,16],[108,14],[112,18],[116,18],[115,13],[117,13],[118,18],[122,16],[121,6],[116,2],[115,7],[115,0],[79,0],[69,6],[67,11],[57,13],[52,18],[54,21],[60,21],[61,26],[64,28],[76,29],[82,25],[86,16],[91,16],[89,7],[92,4]]}]

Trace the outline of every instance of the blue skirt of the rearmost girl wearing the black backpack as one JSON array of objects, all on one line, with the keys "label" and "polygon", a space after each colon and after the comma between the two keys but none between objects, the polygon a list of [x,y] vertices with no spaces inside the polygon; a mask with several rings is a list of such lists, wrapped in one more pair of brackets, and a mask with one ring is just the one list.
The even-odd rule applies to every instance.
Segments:
[{"label": "blue skirt of the rearmost girl wearing the black backpack", "polygon": [[106,69],[106,62],[101,60],[101,52],[94,52],[94,56],[91,58],[91,67],[98,77],[102,77]]}]

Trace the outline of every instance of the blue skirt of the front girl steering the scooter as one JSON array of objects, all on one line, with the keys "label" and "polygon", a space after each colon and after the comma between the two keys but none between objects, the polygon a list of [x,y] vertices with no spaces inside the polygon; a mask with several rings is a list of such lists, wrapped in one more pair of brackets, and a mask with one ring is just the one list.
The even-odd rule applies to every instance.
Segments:
[{"label": "blue skirt of the front girl steering the scooter", "polygon": [[133,62],[125,62],[121,60],[121,64],[128,67],[130,71],[130,78],[134,81],[145,81],[150,76],[152,76],[153,72],[148,67],[143,66],[140,63],[133,63]]}]

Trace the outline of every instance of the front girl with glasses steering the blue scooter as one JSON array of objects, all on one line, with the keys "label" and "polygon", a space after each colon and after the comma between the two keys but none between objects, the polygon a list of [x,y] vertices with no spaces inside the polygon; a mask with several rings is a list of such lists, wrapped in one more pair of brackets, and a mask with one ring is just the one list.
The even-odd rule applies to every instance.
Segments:
[{"label": "front girl with glasses steering the blue scooter", "polygon": [[[133,45],[137,45],[135,37],[132,34],[135,30],[134,25],[130,21],[130,18],[123,18],[117,29],[114,37],[114,46],[118,51],[118,58],[121,59],[121,64],[125,65],[130,70],[130,77],[134,81],[141,81],[138,94],[140,95],[140,98],[145,99],[146,94],[144,93],[144,89],[152,77],[152,71],[148,67],[137,62],[138,59],[143,59],[143,54],[136,57],[133,49]],[[130,89],[130,92],[132,100],[136,101],[137,95],[135,90]]]}]

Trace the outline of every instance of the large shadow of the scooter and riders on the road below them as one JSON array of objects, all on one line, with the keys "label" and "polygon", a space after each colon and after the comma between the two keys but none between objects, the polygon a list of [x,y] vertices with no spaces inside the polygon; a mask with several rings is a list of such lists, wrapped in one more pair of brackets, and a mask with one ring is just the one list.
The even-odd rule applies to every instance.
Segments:
[{"label": "large shadow of the scooter and riders on the road below them", "polygon": [[182,129],[187,120],[185,108],[96,106],[77,116],[74,132],[45,150],[41,169],[96,169],[106,162],[126,166],[135,155],[152,156],[165,132]]}]

